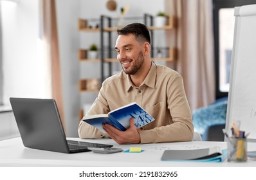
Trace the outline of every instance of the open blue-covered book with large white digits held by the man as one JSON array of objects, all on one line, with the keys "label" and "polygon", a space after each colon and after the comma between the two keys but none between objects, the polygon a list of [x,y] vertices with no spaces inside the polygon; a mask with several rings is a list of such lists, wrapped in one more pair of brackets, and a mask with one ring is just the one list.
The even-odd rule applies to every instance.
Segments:
[{"label": "open blue-covered book with large white digits held by the man", "polygon": [[87,115],[84,116],[82,120],[93,127],[96,127],[100,131],[105,132],[102,128],[102,124],[105,123],[116,127],[120,131],[125,131],[130,126],[129,121],[131,118],[134,118],[134,125],[137,128],[143,127],[154,121],[151,114],[147,113],[147,111],[136,104],[136,102],[114,109],[108,114]]}]

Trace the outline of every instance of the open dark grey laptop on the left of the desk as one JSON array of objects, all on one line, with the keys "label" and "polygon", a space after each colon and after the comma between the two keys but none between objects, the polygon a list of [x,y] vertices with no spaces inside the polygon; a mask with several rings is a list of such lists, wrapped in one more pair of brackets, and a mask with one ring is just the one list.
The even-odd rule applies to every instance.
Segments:
[{"label": "open dark grey laptop on the left of the desk", "polygon": [[91,151],[88,147],[113,145],[66,140],[54,99],[10,98],[24,147],[54,152]]}]

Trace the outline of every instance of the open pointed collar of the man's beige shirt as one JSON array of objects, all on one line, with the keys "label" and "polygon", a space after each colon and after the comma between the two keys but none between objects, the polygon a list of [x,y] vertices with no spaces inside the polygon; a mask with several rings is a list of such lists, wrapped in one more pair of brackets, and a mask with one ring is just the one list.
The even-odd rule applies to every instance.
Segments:
[{"label": "open pointed collar of the man's beige shirt", "polygon": [[[143,81],[142,85],[145,84],[148,87],[154,88],[156,85],[156,65],[152,62],[151,69],[149,70],[149,73],[147,74],[145,80]],[[122,72],[123,73],[123,72]],[[129,75],[126,75],[125,78],[125,90],[129,91],[131,87],[135,87],[133,82],[131,82],[131,78]]]}]

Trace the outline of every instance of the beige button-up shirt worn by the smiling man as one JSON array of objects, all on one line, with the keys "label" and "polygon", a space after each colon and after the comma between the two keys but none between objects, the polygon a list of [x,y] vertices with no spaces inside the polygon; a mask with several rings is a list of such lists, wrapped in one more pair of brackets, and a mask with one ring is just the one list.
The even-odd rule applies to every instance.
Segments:
[{"label": "beige button-up shirt worn by the smiling man", "polygon": [[[140,87],[135,87],[123,71],[107,78],[87,114],[106,114],[131,102],[143,107],[155,120],[142,127],[141,143],[191,141],[194,134],[192,114],[178,72],[152,63]],[[108,138],[86,122],[78,127],[80,138]]]}]

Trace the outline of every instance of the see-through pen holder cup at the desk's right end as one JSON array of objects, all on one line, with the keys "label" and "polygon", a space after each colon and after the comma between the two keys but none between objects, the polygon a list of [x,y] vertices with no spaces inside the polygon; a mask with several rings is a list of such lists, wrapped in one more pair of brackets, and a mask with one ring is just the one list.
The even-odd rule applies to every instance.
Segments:
[{"label": "see-through pen holder cup at the desk's right end", "polygon": [[228,161],[247,161],[247,140],[246,138],[228,138]]}]

